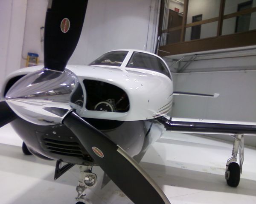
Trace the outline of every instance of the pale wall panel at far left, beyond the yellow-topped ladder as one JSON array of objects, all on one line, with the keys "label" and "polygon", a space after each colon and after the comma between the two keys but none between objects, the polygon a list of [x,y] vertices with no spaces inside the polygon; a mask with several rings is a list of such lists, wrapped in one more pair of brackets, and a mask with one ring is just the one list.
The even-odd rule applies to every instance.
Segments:
[{"label": "pale wall panel at far left, beyond the yellow-topped ladder", "polygon": [[0,0],[0,86],[20,68],[27,0]]}]

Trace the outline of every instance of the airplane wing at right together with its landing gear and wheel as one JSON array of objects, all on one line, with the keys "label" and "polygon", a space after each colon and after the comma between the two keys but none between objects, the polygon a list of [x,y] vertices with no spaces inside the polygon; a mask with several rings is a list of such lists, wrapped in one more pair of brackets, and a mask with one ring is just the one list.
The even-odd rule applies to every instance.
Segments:
[{"label": "airplane wing at right together with its landing gear and wheel", "polygon": [[[205,119],[170,118],[162,116],[158,122],[166,130],[179,133],[228,134],[234,138],[232,156],[227,160],[225,178],[231,187],[237,187],[244,162],[244,135],[256,135],[256,123]],[[239,155],[239,164],[237,163]]]}]

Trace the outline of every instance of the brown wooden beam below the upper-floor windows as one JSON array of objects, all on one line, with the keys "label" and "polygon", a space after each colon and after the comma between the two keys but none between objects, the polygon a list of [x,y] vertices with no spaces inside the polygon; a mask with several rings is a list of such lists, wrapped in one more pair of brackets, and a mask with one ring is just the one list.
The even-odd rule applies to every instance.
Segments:
[{"label": "brown wooden beam below the upper-floor windows", "polygon": [[[256,30],[160,46],[158,55],[168,56],[256,45]],[[163,51],[161,51],[163,50]]]}]

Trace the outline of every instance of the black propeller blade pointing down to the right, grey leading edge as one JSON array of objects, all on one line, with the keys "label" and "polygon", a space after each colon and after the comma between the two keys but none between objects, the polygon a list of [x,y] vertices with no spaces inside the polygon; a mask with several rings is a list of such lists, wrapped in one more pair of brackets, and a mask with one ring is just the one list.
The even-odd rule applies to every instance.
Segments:
[{"label": "black propeller blade pointing down to the right, grey leading edge", "polygon": [[170,204],[147,173],[124,150],[74,111],[63,119],[102,170],[135,204]]}]

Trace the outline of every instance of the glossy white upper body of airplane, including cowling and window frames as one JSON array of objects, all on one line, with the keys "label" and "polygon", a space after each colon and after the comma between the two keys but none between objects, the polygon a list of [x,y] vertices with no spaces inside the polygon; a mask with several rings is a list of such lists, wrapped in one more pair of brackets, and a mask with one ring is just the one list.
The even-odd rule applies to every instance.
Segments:
[{"label": "glossy white upper body of airplane, including cowling and window frames", "polygon": [[[137,121],[154,119],[171,111],[173,98],[172,79],[165,74],[147,70],[146,68],[126,67],[133,52],[134,50],[128,50],[127,56],[119,67],[107,65],[67,65],[66,69],[72,71],[77,76],[85,94],[86,89],[83,80],[89,79],[115,85],[125,91],[129,99],[130,107],[125,113],[87,110],[84,103],[83,107],[77,111],[81,117]],[[156,56],[151,53],[147,54]],[[10,74],[3,85],[1,99],[4,99],[4,89],[10,79],[38,71],[42,68],[43,66],[23,68]]]}]

